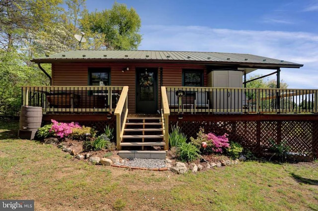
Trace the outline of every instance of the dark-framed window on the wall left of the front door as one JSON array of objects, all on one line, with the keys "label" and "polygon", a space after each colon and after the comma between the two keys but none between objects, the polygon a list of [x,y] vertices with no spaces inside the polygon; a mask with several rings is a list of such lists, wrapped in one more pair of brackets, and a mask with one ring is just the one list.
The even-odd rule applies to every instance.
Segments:
[{"label": "dark-framed window on the wall left of the front door", "polygon": [[104,86],[110,85],[110,68],[89,68],[88,85],[99,86],[100,82]]}]

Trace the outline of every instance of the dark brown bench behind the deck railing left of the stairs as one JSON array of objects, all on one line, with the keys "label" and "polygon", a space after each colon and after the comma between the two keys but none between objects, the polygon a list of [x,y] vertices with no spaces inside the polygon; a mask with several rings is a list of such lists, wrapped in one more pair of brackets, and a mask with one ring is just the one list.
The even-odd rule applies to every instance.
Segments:
[{"label": "dark brown bench behind the deck railing left of the stairs", "polygon": [[46,95],[49,107],[74,108],[79,107],[80,96],[70,93],[51,93]]}]

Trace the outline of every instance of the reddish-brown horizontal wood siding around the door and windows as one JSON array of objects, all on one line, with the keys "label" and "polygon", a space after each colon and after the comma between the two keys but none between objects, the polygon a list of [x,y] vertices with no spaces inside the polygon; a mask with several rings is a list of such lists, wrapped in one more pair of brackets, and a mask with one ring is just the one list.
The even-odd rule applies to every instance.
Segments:
[{"label": "reddish-brown horizontal wood siding around the door and windows", "polygon": [[[160,68],[162,68],[162,86],[182,86],[182,70],[198,69],[204,71],[204,86],[207,86],[207,70],[205,65],[175,63],[141,63],[141,62],[87,62],[87,63],[54,63],[52,64],[52,85],[54,86],[87,86],[88,68],[110,68],[112,86],[129,86],[129,113],[136,112],[136,68],[158,68],[158,108],[161,108]],[[122,70],[129,67],[129,70]]]}]

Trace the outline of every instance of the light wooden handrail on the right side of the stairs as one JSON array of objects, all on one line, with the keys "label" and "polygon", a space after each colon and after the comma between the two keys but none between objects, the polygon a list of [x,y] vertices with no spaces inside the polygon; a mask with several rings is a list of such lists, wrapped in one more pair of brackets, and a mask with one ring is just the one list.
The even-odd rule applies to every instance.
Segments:
[{"label": "light wooden handrail on the right side of the stairs", "polygon": [[161,118],[162,118],[162,127],[163,130],[163,137],[165,141],[165,150],[169,150],[169,115],[170,115],[170,108],[168,103],[168,97],[166,88],[164,86],[161,87]]}]

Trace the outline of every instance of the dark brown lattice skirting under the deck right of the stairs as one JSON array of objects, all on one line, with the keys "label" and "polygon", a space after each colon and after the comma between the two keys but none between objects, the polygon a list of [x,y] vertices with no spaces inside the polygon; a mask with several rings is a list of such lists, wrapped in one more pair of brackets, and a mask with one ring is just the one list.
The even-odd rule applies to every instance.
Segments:
[{"label": "dark brown lattice skirting under the deck right of the stairs", "polygon": [[271,147],[270,139],[276,144],[282,141],[290,152],[305,154],[299,159],[318,158],[318,121],[170,121],[178,124],[187,137],[196,138],[200,127],[205,132],[217,135],[229,134],[229,140],[240,143],[256,156],[262,156]]}]

